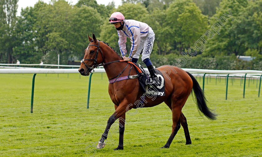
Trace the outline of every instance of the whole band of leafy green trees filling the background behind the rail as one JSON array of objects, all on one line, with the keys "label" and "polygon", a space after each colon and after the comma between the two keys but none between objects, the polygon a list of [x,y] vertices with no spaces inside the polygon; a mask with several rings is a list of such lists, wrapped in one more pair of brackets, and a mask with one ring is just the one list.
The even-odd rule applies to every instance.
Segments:
[{"label": "whole band of leafy green trees filling the background behind the rail", "polygon": [[[104,6],[96,0],[79,0],[74,6],[65,0],[52,0],[50,4],[38,1],[34,7],[22,9],[21,16],[16,17],[17,0],[0,0],[0,62],[14,63],[19,59],[21,63],[43,60],[46,64],[56,64],[59,54],[61,64],[67,64],[68,58],[83,57],[89,44],[87,35],[92,33],[119,52],[116,30],[108,23],[110,15],[119,11],[126,19],[152,27],[155,41],[150,58],[157,66],[170,64],[168,57],[177,60],[178,55],[196,47],[195,42],[204,38],[205,50],[197,50],[195,64],[188,60],[189,67],[259,69],[255,64],[260,63],[262,55],[262,0],[220,1],[123,0],[118,8],[114,2]],[[224,14],[230,14],[229,9],[234,21]],[[222,16],[228,20],[221,19],[225,26],[216,19]],[[220,25],[220,35],[211,28],[214,23]],[[210,39],[205,34],[207,30],[214,32]],[[129,40],[126,45],[129,51]],[[245,63],[232,59],[232,65],[226,67],[227,63],[218,59],[232,54],[234,58],[255,56],[257,61]],[[209,65],[204,65],[205,61]],[[219,66],[215,64],[218,61],[221,61]]]}]

